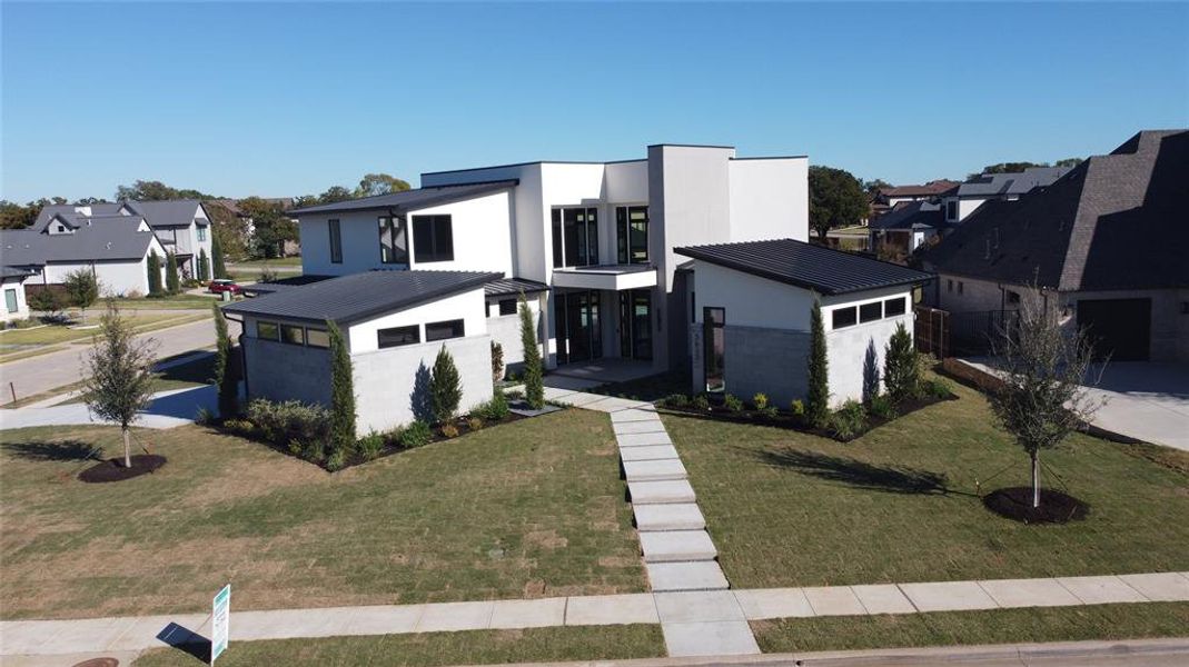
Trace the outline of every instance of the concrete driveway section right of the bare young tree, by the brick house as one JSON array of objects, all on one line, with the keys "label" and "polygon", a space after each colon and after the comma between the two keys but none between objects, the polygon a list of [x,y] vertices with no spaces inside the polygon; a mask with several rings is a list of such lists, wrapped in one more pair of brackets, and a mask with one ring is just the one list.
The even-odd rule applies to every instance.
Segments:
[{"label": "concrete driveway section right of the bare young tree, by the brick house", "polygon": [[1189,452],[1189,364],[1114,361],[1102,373],[1093,396],[1107,403],[1094,426],[1144,442]]}]

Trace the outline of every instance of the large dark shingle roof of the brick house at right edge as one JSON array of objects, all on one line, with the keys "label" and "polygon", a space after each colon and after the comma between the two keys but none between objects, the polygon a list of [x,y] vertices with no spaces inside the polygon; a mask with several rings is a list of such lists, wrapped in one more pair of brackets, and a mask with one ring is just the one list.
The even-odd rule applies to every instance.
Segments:
[{"label": "large dark shingle roof of the brick house at right edge", "polygon": [[1065,291],[1189,285],[1189,130],[1144,131],[1042,191],[990,201],[924,259]]}]

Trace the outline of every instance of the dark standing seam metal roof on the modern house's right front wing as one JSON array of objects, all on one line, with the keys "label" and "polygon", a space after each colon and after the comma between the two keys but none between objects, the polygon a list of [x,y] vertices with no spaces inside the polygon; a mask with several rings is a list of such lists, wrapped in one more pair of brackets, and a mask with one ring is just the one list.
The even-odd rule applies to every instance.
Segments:
[{"label": "dark standing seam metal roof on the modern house's right front wing", "polygon": [[678,247],[673,252],[828,295],[933,279],[931,273],[907,266],[795,239]]}]

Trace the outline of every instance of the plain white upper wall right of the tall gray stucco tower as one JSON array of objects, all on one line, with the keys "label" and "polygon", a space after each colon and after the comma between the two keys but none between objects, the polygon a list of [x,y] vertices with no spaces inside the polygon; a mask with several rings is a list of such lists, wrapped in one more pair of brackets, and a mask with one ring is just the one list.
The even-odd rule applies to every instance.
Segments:
[{"label": "plain white upper wall right of the tall gray stucco tower", "polygon": [[809,240],[809,158],[732,159],[730,240]]}]

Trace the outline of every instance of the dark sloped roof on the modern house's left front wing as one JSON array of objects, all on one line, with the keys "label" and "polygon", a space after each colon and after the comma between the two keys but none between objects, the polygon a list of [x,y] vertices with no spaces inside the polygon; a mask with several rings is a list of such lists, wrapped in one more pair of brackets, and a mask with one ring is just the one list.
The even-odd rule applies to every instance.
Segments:
[{"label": "dark sloped roof on the modern house's left front wing", "polygon": [[367,271],[291,287],[224,308],[256,317],[357,322],[483,287],[503,273],[482,271]]}]

